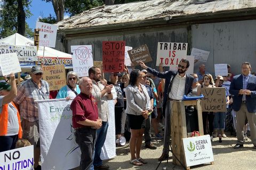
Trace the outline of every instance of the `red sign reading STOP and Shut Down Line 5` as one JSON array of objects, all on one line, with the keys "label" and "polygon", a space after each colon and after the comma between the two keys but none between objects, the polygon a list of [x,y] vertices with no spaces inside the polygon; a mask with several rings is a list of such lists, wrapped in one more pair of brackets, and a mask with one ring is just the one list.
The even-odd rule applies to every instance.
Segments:
[{"label": "red sign reading STOP and Shut Down Line 5", "polygon": [[123,72],[125,41],[103,41],[102,60],[104,72]]}]

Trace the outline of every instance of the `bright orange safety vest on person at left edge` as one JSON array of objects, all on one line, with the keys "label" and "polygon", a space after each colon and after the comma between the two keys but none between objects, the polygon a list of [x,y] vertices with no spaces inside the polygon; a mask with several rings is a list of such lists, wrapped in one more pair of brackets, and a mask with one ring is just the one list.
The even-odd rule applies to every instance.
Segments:
[{"label": "bright orange safety vest on person at left edge", "polygon": [[[12,102],[11,102],[12,103]],[[12,103],[12,105],[17,109],[17,107]],[[19,122],[19,139],[22,138],[22,128],[20,122],[20,113],[17,109],[17,117]],[[8,125],[8,104],[3,105],[2,113],[0,114],[0,136],[7,134],[7,125]]]}]

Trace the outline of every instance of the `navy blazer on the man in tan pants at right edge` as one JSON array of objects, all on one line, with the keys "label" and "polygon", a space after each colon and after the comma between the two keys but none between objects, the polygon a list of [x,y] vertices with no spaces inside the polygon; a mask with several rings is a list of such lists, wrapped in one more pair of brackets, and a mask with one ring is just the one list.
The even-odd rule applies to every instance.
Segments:
[{"label": "navy blazer on the man in tan pants at right edge", "polygon": [[[243,95],[239,95],[239,90],[243,89],[243,75],[236,75],[230,84],[229,93],[234,95],[233,97],[233,109],[239,111]],[[250,74],[247,82],[247,90],[251,90],[251,95],[246,95],[247,111],[250,113],[256,113],[256,77]]]}]

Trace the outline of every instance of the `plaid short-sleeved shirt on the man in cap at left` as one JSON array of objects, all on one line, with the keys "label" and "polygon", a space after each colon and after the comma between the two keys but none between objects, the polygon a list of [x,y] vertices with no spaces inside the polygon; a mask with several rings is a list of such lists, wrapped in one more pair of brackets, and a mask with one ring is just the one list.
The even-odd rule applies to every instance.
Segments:
[{"label": "plaid short-sleeved shirt on the man in cap at left", "polygon": [[49,99],[49,84],[41,80],[41,88],[39,89],[37,84],[29,79],[22,83],[17,90],[17,97],[13,101],[20,105],[21,117],[29,122],[35,122],[38,120],[38,108],[35,100]]}]

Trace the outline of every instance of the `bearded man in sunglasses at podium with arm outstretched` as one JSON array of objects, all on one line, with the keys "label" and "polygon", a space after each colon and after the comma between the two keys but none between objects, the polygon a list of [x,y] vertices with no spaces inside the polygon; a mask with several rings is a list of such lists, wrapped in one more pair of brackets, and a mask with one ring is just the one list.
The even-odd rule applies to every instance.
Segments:
[{"label": "bearded man in sunglasses at podium with arm outstretched", "polygon": [[163,113],[165,113],[164,148],[163,154],[158,158],[158,160],[164,160],[168,158],[171,135],[171,105],[170,102],[167,101],[182,100],[183,95],[191,96],[194,78],[186,73],[189,67],[189,61],[184,59],[180,61],[178,71],[169,70],[166,72],[158,72],[146,66],[142,61],[140,61],[140,66],[156,77],[165,79],[163,100]]}]

